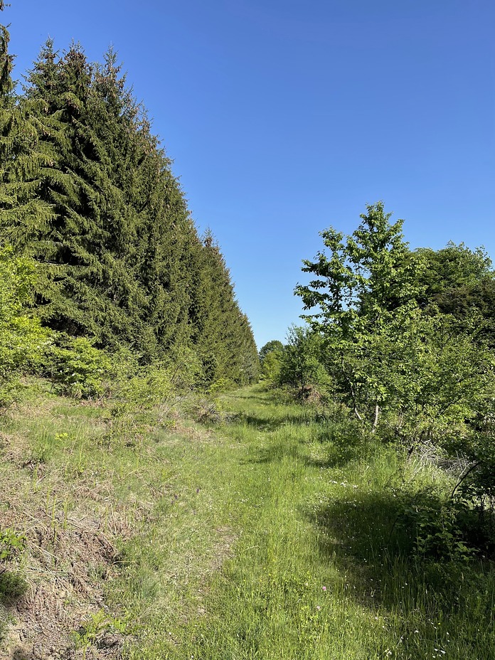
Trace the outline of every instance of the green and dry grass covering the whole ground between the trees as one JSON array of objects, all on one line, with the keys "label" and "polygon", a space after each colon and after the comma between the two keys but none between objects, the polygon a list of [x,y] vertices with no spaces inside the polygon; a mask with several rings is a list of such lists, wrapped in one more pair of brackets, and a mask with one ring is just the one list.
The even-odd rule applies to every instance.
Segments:
[{"label": "green and dry grass covering the whole ground between the trees", "polygon": [[110,409],[38,388],[6,422],[2,516],[28,538],[16,598],[64,590],[72,614],[52,623],[74,657],[495,658],[492,564],[425,560],[398,524],[445,474],[259,386],[223,406],[221,425],[109,434]]}]

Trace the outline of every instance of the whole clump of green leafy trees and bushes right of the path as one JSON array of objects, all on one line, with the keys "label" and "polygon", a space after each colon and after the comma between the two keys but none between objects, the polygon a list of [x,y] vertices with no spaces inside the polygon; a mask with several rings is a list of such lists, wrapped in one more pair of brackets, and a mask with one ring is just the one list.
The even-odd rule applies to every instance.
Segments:
[{"label": "whole clump of green leafy trees and bushes right of the path", "polygon": [[446,314],[440,303],[447,287],[460,294],[480,277],[489,291],[491,262],[483,250],[453,244],[411,255],[403,221],[391,225],[381,203],[361,218],[345,240],[323,232],[326,251],[304,262],[318,279],[296,293],[306,309],[318,308],[306,318],[321,346],[315,352],[299,340],[302,356],[294,356],[323,364],[336,395],[380,437],[430,443],[471,465],[459,488],[483,506],[495,485],[494,354],[479,311],[451,302]]}]

